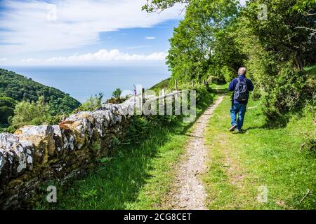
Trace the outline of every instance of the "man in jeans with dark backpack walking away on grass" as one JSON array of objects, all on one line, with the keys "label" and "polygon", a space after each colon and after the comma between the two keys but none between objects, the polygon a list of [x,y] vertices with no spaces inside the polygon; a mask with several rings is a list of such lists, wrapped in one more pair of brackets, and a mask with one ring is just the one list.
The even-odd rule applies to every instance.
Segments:
[{"label": "man in jeans with dark backpack walking away on grass", "polygon": [[246,68],[242,67],[238,69],[238,77],[232,80],[228,90],[234,91],[234,94],[232,94],[232,106],[230,108],[230,117],[232,118],[230,132],[234,132],[235,130],[242,132],[249,91],[254,90],[254,85],[251,80],[246,78]]}]

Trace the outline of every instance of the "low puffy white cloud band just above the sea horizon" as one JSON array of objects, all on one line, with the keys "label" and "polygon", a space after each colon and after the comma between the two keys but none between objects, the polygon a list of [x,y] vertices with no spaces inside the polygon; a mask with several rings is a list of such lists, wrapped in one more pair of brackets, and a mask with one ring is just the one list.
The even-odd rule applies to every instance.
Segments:
[{"label": "low puffy white cloud band just above the sea horizon", "polygon": [[117,49],[107,51],[105,49],[98,52],[84,55],[72,55],[70,57],[51,57],[45,62],[111,62],[111,61],[160,61],[166,58],[166,52],[154,52],[150,55],[137,55],[120,52]]}]

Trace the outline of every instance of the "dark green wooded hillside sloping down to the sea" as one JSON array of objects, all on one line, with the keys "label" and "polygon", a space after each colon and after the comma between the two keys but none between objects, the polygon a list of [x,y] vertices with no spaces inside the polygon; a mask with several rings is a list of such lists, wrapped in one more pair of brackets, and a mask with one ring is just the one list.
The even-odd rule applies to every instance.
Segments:
[{"label": "dark green wooded hillside sloping down to the sea", "polygon": [[[0,109],[6,111],[8,116],[12,115],[12,99],[16,102],[22,102],[23,100],[36,102],[41,96],[44,96],[53,116],[57,113],[70,113],[80,105],[77,99],[54,87],[42,85],[13,71],[0,69]],[[8,100],[10,99],[8,97],[11,98],[11,106],[8,106]],[[3,120],[6,120],[6,118],[1,119],[1,123],[4,123]]]}]

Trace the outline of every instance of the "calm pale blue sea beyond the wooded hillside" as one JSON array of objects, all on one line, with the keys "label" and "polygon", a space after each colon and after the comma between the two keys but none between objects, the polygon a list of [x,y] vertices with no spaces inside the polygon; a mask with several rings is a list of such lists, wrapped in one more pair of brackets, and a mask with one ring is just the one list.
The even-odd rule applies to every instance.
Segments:
[{"label": "calm pale blue sea beyond the wooded hillside", "polygon": [[41,84],[55,87],[83,103],[99,92],[109,99],[116,88],[133,92],[134,85],[145,89],[169,78],[166,65],[109,66],[4,66]]}]

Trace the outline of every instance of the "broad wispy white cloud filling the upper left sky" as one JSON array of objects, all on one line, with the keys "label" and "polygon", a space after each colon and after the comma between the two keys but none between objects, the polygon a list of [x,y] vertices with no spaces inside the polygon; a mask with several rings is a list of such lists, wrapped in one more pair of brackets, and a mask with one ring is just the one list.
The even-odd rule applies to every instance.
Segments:
[{"label": "broad wispy white cloud filling the upper left sky", "polygon": [[[93,45],[100,32],[152,27],[179,18],[180,6],[146,13],[146,0],[63,0],[55,8],[43,0],[1,1],[0,52],[41,52]],[[56,9],[56,10],[55,10]],[[55,13],[55,14],[54,14]],[[183,16],[183,15],[181,15]]]}]

